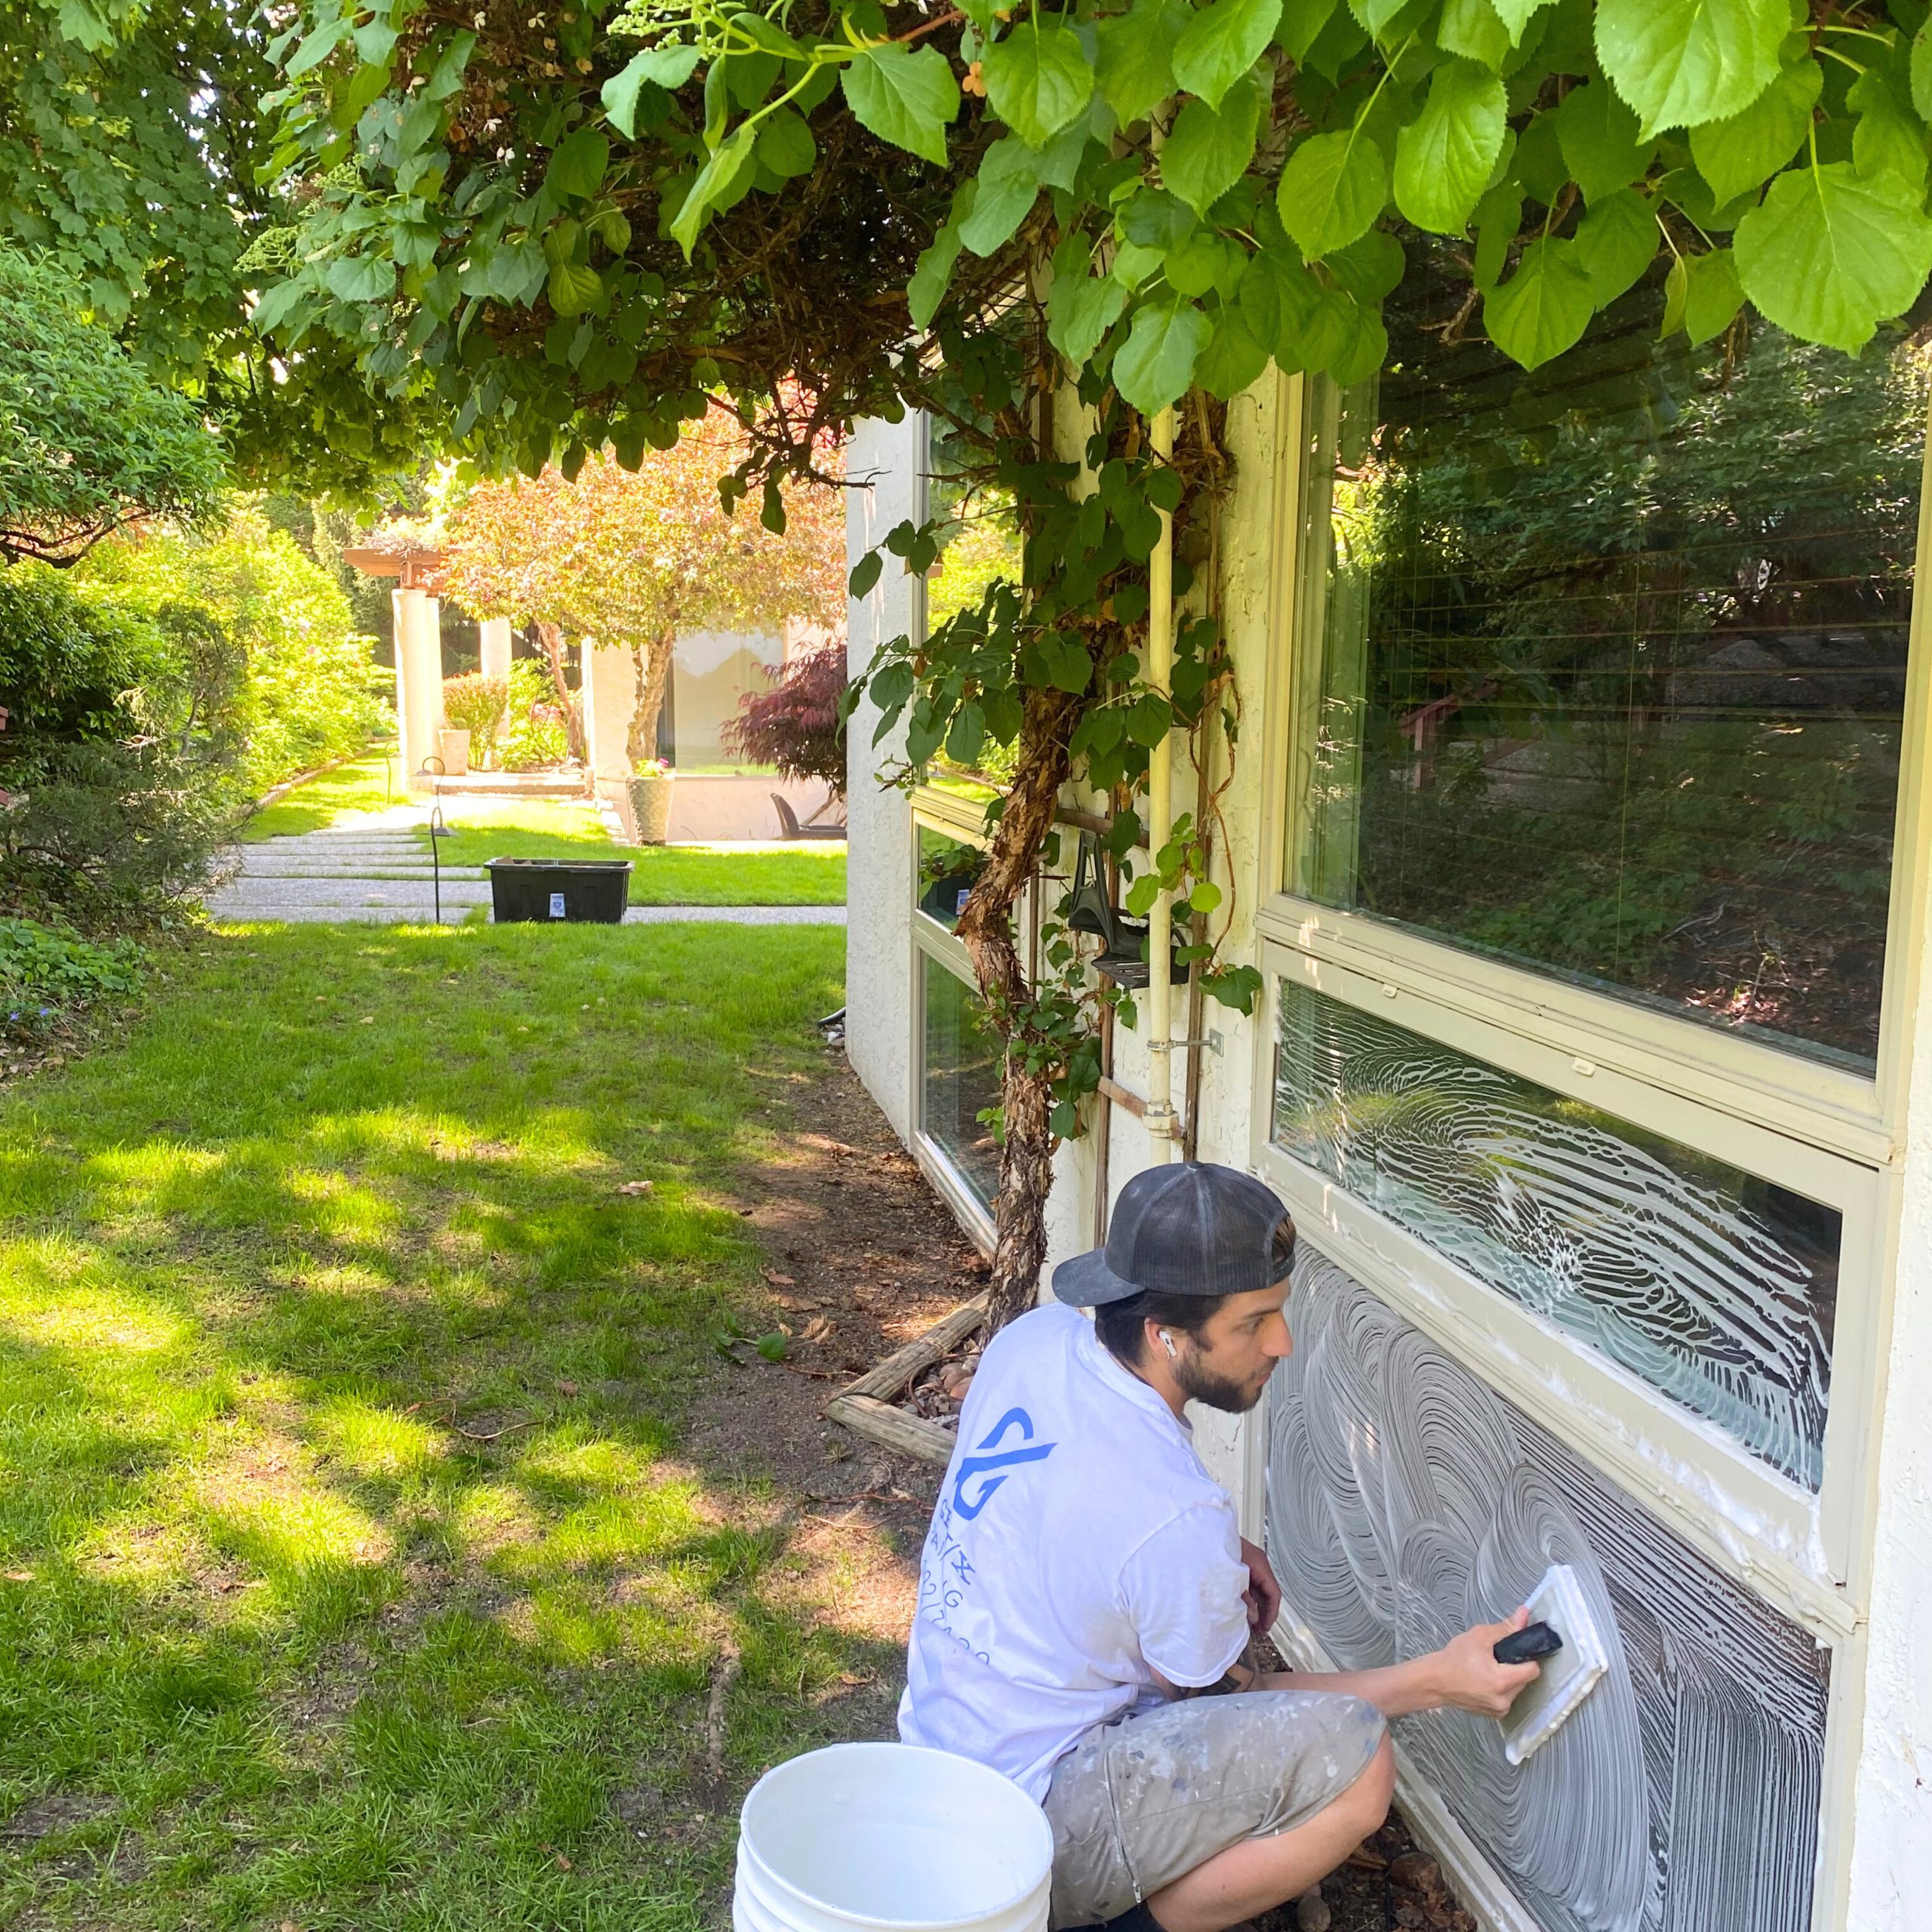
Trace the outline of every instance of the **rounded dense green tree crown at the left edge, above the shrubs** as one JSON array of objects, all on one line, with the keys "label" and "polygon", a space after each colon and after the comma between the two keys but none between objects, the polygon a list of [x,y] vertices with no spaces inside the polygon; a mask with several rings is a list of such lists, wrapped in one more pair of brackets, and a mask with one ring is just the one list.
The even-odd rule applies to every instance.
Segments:
[{"label": "rounded dense green tree crown at the left edge, above the shrubs", "polygon": [[0,249],[0,560],[73,564],[137,518],[216,514],[222,452],[195,410],[81,319],[58,269]]}]

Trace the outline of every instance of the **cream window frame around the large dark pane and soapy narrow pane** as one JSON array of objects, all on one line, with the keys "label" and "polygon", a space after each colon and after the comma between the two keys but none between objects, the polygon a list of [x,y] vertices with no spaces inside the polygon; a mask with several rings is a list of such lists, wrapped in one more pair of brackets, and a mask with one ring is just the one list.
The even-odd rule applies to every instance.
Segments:
[{"label": "cream window frame around the large dark pane and soapy narrow pane", "polygon": [[[1889,1333],[1899,1238],[1903,1090],[1924,972],[1932,811],[1932,616],[1913,599],[1893,833],[1893,881],[1872,1074],[1507,964],[1287,889],[1304,829],[1308,705],[1320,690],[1323,568],[1304,558],[1308,431],[1321,406],[1306,377],[1277,377],[1269,730],[1264,732],[1262,879],[1256,908],[1265,1014],[1256,1030],[1250,1159],[1302,1233],[1383,1294],[1538,1422],[1652,1507],[1669,1528],[1822,1638],[1857,1631],[1868,1588],[1872,1414]],[[1932,439],[1920,462],[1915,582],[1932,568]],[[1320,583],[1314,580],[1320,578]],[[1843,1211],[1824,1480],[1810,1495],[1714,1424],[1617,1368],[1588,1343],[1509,1302],[1273,1146],[1279,981],[1379,1012],[1553,1092],[1754,1169]],[[1716,1507],[1716,1499],[1729,1507]],[[1833,1698],[1837,1704],[1837,1698]]]}]

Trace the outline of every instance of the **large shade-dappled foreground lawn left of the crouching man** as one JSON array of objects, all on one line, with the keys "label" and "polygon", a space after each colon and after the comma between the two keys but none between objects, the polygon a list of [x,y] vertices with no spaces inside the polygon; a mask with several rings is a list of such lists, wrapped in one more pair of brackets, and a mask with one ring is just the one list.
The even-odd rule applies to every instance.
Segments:
[{"label": "large shade-dappled foreground lawn left of the crouching man", "polygon": [[220,931],[0,1099],[0,1924],[713,1918],[721,1648],[738,1787],[889,1667],[680,1455],[840,949]]}]

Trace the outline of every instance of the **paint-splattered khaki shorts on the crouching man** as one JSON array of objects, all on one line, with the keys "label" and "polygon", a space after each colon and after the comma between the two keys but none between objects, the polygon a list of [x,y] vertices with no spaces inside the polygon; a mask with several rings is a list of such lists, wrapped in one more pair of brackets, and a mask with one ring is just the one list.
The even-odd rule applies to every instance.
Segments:
[{"label": "paint-splattered khaki shorts on the crouching man", "polygon": [[1053,1768],[1053,1924],[1086,1926],[1248,1837],[1306,1824],[1368,1770],[1374,1704],[1242,1690],[1095,1725]]}]

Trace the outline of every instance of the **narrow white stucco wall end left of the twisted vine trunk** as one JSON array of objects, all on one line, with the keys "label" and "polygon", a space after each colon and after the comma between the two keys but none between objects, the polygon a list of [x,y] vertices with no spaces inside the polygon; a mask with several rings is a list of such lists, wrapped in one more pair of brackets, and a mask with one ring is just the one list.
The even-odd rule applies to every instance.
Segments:
[{"label": "narrow white stucco wall end left of the twisted vine trunk", "polygon": [[[846,448],[846,553],[858,562],[898,522],[925,516],[925,417],[860,423]],[[898,558],[867,597],[846,607],[846,663],[858,676],[887,638],[923,622],[923,585]],[[846,1055],[895,1132],[912,1138],[912,813],[906,796],[881,788],[873,748],[879,709],[852,713],[846,752]]]}]

